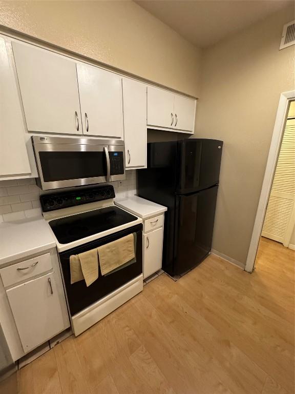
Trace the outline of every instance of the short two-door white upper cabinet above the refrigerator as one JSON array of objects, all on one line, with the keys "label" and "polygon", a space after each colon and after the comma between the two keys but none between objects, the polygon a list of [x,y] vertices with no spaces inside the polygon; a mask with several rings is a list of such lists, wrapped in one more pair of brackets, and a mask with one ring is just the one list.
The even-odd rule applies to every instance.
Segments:
[{"label": "short two-door white upper cabinet above the refrigerator", "polygon": [[147,87],[147,125],[175,131],[194,132],[196,100]]}]

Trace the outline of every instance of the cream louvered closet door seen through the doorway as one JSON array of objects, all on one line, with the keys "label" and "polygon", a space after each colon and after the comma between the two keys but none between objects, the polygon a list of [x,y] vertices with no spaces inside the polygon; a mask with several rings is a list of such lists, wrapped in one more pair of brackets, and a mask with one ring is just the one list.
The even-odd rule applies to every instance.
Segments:
[{"label": "cream louvered closet door seen through the doorway", "polygon": [[295,119],[288,119],[266,209],[262,235],[288,247],[294,227]]}]

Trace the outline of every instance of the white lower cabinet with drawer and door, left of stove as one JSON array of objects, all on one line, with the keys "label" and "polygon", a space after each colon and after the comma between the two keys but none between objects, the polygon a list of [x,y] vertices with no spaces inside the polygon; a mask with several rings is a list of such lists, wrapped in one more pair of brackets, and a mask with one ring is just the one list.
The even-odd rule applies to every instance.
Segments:
[{"label": "white lower cabinet with drawer and door, left of stove", "polygon": [[0,269],[0,325],[13,361],[70,326],[56,249]]}]

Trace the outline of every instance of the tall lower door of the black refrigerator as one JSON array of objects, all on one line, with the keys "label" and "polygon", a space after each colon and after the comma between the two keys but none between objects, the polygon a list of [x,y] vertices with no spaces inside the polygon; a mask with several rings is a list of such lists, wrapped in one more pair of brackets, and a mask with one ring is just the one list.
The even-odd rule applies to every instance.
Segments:
[{"label": "tall lower door of the black refrigerator", "polygon": [[174,265],[181,275],[201,263],[211,250],[218,185],[176,196]]}]

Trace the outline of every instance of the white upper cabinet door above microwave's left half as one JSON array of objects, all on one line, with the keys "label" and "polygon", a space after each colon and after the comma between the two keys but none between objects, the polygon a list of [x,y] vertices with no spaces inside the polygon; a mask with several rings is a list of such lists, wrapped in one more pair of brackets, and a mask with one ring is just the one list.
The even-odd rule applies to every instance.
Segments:
[{"label": "white upper cabinet door above microwave's left half", "polygon": [[12,43],[28,131],[82,134],[75,62]]}]

